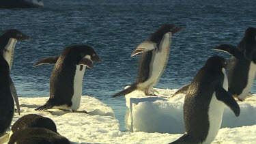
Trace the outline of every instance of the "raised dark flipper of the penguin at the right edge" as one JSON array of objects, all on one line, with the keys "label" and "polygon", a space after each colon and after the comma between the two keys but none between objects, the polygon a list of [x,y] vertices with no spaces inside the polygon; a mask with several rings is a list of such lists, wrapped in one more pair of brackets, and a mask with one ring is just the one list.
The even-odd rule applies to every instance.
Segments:
[{"label": "raised dark flipper of the penguin at the right edge", "polygon": [[242,52],[240,52],[236,46],[231,44],[220,44],[215,46],[214,50],[229,53],[230,55],[233,55],[233,57],[236,57],[236,59],[244,59]]}]

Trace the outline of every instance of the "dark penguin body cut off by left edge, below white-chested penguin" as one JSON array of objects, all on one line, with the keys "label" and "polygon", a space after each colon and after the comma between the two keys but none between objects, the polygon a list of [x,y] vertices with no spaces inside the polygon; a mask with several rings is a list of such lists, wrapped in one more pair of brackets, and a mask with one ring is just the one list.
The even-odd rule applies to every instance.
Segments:
[{"label": "dark penguin body cut off by left edge, below white-chested penguin", "polygon": [[10,68],[0,55],[0,135],[9,128],[14,117],[14,99],[10,89]]}]

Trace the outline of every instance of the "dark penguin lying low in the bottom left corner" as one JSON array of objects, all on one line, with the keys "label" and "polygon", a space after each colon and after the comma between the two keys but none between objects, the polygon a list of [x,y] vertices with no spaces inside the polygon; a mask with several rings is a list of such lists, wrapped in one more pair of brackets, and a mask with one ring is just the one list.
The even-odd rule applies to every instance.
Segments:
[{"label": "dark penguin lying low in the bottom left corner", "polygon": [[11,132],[0,139],[0,143],[8,141],[10,144],[70,143],[66,137],[57,132],[52,119],[35,114],[20,117],[12,126]]}]

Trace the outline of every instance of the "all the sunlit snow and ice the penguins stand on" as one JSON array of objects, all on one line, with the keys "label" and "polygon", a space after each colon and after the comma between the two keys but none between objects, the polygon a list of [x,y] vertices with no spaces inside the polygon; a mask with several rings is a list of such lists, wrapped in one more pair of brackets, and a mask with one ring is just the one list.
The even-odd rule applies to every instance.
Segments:
[{"label": "all the sunlit snow and ice the penguins stand on", "polygon": [[[59,134],[66,136],[72,143],[170,143],[184,133],[184,96],[169,99],[177,89],[156,90],[161,97],[149,98],[141,91],[126,96],[126,104],[130,108],[128,124],[132,124],[130,127],[134,132],[121,132],[113,110],[90,96],[82,96],[79,109],[89,114],[58,109],[34,111],[48,98],[19,98],[21,113],[15,113],[12,124],[23,115],[35,113],[53,119]],[[229,109],[225,109],[223,128],[219,130],[214,143],[256,142],[256,95],[239,102],[239,105],[240,117],[235,117]],[[165,133],[167,131],[169,133]]]}]

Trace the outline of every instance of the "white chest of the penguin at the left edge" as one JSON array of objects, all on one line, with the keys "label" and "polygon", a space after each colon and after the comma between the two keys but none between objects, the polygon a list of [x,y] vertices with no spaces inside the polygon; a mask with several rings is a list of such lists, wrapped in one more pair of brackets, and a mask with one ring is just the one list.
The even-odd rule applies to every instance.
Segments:
[{"label": "white chest of the penguin at the left edge", "polygon": [[12,61],[14,58],[14,48],[16,45],[17,40],[14,38],[10,38],[8,41],[8,44],[5,46],[5,51],[3,51],[3,57],[8,62],[10,66],[10,70],[12,68]]}]

